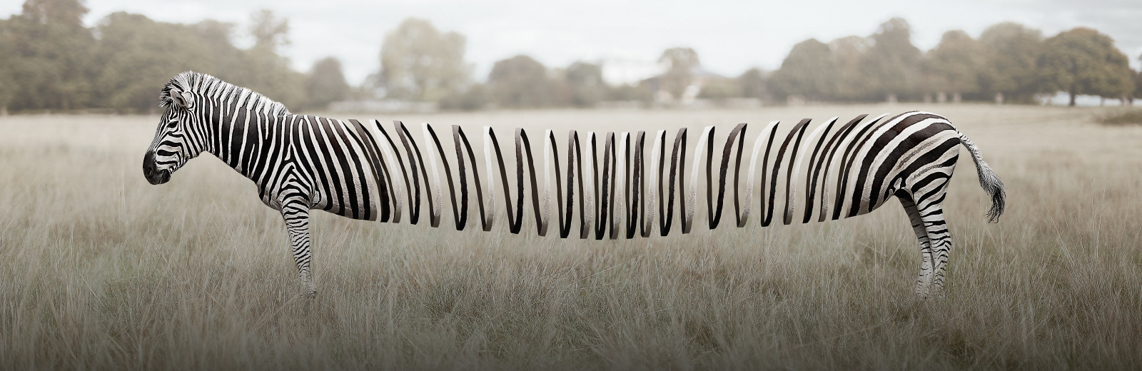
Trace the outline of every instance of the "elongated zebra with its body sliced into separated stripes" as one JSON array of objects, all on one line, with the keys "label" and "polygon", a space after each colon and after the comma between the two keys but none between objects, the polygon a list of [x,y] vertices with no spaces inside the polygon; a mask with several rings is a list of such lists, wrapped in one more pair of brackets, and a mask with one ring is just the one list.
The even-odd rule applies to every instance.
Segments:
[{"label": "elongated zebra with its body sliced into separated stripes", "polygon": [[[685,128],[678,129],[675,135],[673,151],[667,151],[666,130],[650,134],[653,140],[650,156],[644,156],[646,131],[606,132],[602,168],[598,161],[600,138],[595,132],[585,132],[580,138],[578,131],[570,130],[563,171],[558,166],[555,135],[553,130],[545,130],[540,162],[545,168],[546,188],[541,197],[531,143],[526,132],[517,128],[513,201],[504,155],[490,127],[483,128],[484,183],[481,182],[477,155],[459,126],[452,126],[456,154],[451,158],[459,170],[457,178],[452,176],[449,156],[440,138],[428,123],[423,123],[423,135],[425,140],[431,138],[432,142],[426,142],[421,152],[421,146],[400,121],[393,122],[394,136],[397,137],[394,140],[394,136],[377,120],[362,123],[357,120],[292,114],[284,105],[250,89],[191,71],[179,73],[167,82],[160,92],[159,106],[164,112],[143,156],[143,174],[147,182],[153,185],[169,182],[175,171],[203,152],[214,154],[252,180],[262,202],[281,212],[304,285],[301,296],[309,298],[316,295],[308,234],[311,210],[321,209],[354,219],[400,223],[404,213],[402,210],[407,209],[408,221],[417,224],[421,216],[423,185],[429,225],[439,227],[443,209],[441,178],[444,178],[456,228],[463,231],[469,209],[471,170],[480,224],[486,232],[491,231],[496,219],[497,186],[493,175],[498,166],[508,228],[518,234],[528,183],[524,158],[529,168],[526,172],[530,172],[530,199],[537,234],[547,234],[552,199],[555,199],[557,229],[563,239],[571,234],[576,205],[579,209],[580,239],[594,235],[596,240],[602,240],[608,229],[612,240],[622,236],[624,229],[627,239],[635,235],[649,237],[654,229],[656,216],[659,216],[659,232],[666,236],[671,231],[676,199],[679,202],[679,227],[682,233],[690,233],[695,219],[698,178],[703,155],[710,229],[721,221],[731,172],[737,227],[747,225],[754,205],[755,185],[759,185],[761,200],[757,204],[762,226],[774,221],[779,188],[783,188],[781,223],[786,225],[794,221],[798,205],[804,209],[802,223],[811,221],[814,210],[818,221],[825,221],[868,213],[895,196],[904,208],[920,245],[922,265],[915,293],[922,299],[939,295],[944,285],[944,271],[952,244],[942,203],[960,145],[971,154],[980,185],[991,199],[991,208],[987,212],[989,221],[998,221],[1006,197],[1003,182],[983,161],[979,147],[946,118],[927,112],[908,112],[891,118],[882,114],[871,120],[860,115],[844,124],[838,124],[838,118],[831,118],[807,137],[805,131],[811,120],[805,119],[785,132],[777,148],[773,144],[782,137],[778,134],[780,122],[770,122],[754,142],[743,201],[739,197],[739,174],[746,123],[739,123],[730,131],[719,167],[714,167],[713,162],[716,128],[703,128],[694,144],[689,184],[684,175]],[[402,147],[404,156],[401,155]],[[670,153],[669,161],[667,152]],[[772,161],[771,155],[774,155]],[[732,171],[729,168],[731,160],[734,160]],[[444,176],[440,175],[437,163],[443,164]],[[467,163],[471,163],[471,169]],[[802,171],[803,164],[805,171]],[[762,168],[759,179],[756,172],[758,166]],[[716,184],[715,168],[719,170]],[[669,169],[668,176],[666,169]],[[553,170],[554,183],[550,176]],[[563,174],[566,175],[565,182]],[[801,175],[805,178],[803,199],[797,195],[802,187],[798,185]],[[783,187],[779,187],[782,184]]]}]

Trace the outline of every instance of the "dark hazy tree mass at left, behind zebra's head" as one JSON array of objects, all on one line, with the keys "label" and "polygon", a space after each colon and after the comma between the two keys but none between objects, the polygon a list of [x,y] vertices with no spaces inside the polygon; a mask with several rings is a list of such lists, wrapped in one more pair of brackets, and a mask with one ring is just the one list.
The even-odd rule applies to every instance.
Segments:
[{"label": "dark hazy tree mass at left, behind zebra's head", "polygon": [[288,23],[268,10],[252,17],[258,42],[247,50],[233,46],[227,23],[172,24],[120,11],[87,29],[80,21],[87,11],[78,0],[27,0],[22,14],[0,19],[0,112],[148,112],[163,83],[187,70],[305,105],[305,76],[275,50]]}]

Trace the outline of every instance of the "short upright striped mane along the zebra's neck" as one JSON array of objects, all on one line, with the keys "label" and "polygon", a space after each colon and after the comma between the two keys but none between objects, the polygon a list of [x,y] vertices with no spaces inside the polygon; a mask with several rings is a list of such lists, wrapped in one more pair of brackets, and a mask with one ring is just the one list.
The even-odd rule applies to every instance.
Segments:
[{"label": "short upright striped mane along the zebra's neck", "polygon": [[[284,104],[274,102],[257,91],[222,81],[222,79],[206,73],[186,71],[171,78],[162,87],[162,92],[159,94],[160,107],[167,107],[172,103],[170,98],[171,90],[196,92],[217,102],[240,99],[240,102],[244,102],[243,107],[268,115],[290,114],[289,108]],[[242,99],[243,97],[244,99]]]}]

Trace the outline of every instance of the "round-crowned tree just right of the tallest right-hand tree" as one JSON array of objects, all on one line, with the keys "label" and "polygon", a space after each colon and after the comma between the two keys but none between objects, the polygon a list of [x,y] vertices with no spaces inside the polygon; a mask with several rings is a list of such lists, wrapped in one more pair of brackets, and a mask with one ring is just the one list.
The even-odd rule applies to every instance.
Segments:
[{"label": "round-crowned tree just right of the tallest right-hand tree", "polygon": [[980,88],[980,73],[987,63],[979,41],[963,31],[948,31],[940,45],[930,50],[923,61],[924,76],[930,89],[951,92],[959,100],[963,92],[975,92]]}]

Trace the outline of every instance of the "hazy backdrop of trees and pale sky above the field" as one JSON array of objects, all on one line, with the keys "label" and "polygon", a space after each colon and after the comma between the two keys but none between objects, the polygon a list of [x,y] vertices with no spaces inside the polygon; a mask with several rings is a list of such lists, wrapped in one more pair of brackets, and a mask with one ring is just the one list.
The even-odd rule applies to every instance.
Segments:
[{"label": "hazy backdrop of trees and pale sky above the field", "polygon": [[8,1],[0,114],[150,112],[185,70],[296,112],[1126,105],[1140,16],[1136,1]]}]

